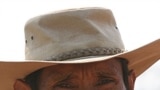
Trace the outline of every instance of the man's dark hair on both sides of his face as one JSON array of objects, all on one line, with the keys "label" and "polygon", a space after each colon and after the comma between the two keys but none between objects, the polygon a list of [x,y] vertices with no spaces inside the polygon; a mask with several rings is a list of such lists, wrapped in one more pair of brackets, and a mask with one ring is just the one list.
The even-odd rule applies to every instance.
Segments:
[{"label": "man's dark hair on both sides of his face", "polygon": [[[123,81],[126,86],[126,89],[129,90],[129,82],[128,82],[128,75],[129,75],[129,69],[128,69],[128,60],[124,58],[117,58],[118,61],[120,61],[122,66],[122,73],[123,73]],[[38,90],[38,83],[40,80],[40,75],[42,73],[43,69],[39,69],[35,72],[32,72],[31,74],[27,75],[24,80],[25,82],[31,87],[32,90]]]}]

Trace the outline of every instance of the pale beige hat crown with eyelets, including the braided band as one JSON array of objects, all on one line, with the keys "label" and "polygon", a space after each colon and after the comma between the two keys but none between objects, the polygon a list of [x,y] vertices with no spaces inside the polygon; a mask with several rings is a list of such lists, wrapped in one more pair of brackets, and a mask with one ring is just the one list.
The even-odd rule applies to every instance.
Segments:
[{"label": "pale beige hat crown with eyelets, including the braided band", "polygon": [[114,55],[124,45],[112,12],[103,8],[49,13],[25,25],[26,60]]}]

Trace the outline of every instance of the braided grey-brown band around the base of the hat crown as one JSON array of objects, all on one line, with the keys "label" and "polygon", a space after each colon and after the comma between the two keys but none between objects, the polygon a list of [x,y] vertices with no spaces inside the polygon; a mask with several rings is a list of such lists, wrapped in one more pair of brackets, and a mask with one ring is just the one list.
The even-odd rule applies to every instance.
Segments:
[{"label": "braided grey-brown band around the base of the hat crown", "polygon": [[115,55],[122,53],[124,50],[119,48],[105,48],[105,47],[96,47],[88,49],[78,49],[69,52],[59,54],[48,58],[48,61],[65,61],[67,59],[80,58],[86,56],[102,56],[102,55]]}]

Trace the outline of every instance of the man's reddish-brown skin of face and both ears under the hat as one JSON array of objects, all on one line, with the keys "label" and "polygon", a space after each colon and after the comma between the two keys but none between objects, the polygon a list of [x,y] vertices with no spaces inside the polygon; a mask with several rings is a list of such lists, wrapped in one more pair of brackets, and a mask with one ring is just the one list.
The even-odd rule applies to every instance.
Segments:
[{"label": "man's reddish-brown skin of face and both ears under the hat", "polygon": [[[134,90],[135,74],[128,76],[129,90]],[[31,90],[17,80],[15,90]],[[49,66],[40,75],[39,90],[126,90],[122,68],[116,59],[86,64]]]}]

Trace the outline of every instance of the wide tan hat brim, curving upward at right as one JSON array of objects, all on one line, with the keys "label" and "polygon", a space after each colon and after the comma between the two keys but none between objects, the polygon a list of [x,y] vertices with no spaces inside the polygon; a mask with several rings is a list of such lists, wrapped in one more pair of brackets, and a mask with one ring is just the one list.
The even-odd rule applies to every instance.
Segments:
[{"label": "wide tan hat brim, curving upward at right", "polygon": [[0,88],[2,90],[13,90],[13,85],[16,79],[24,78],[27,74],[46,66],[57,64],[91,63],[97,61],[104,61],[115,57],[127,59],[129,61],[129,69],[133,69],[136,72],[136,76],[139,76],[151,65],[153,65],[158,59],[160,59],[159,46],[160,39],[143,47],[140,47],[136,50],[112,56],[88,57],[80,60],[76,59],[71,61],[1,61]]}]

